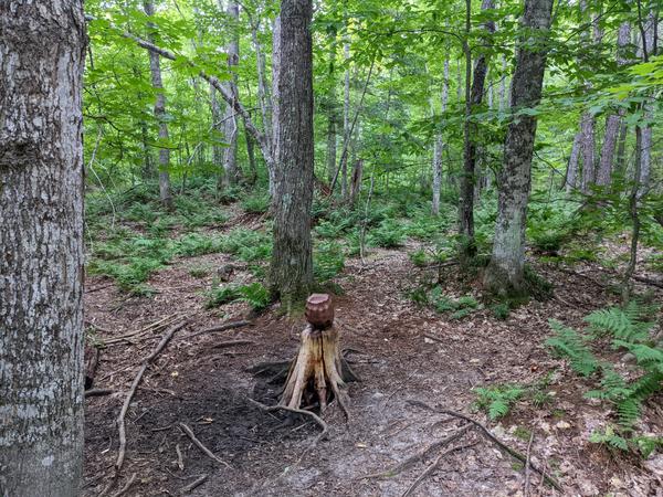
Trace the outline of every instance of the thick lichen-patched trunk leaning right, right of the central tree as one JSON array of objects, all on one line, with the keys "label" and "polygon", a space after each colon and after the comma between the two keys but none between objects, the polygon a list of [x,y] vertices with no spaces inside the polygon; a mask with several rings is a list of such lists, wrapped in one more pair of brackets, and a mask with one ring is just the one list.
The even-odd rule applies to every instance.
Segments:
[{"label": "thick lichen-patched trunk leaning right, right of the central tree", "polygon": [[[525,1],[522,28],[527,31],[519,40],[512,81],[511,101],[516,112],[540,101],[551,12],[552,0]],[[486,288],[501,295],[525,292],[525,225],[536,125],[536,116],[523,115],[509,123],[506,133],[493,254],[484,278]]]}]

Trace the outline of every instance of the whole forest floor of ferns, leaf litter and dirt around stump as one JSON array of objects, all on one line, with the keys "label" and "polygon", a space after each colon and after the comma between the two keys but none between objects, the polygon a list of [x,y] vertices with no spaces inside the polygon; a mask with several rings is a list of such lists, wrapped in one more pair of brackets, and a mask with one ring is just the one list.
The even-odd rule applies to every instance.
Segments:
[{"label": "whole forest floor of ferns, leaf litter and dirt around stump", "polygon": [[[459,271],[455,255],[452,203],[432,216],[415,192],[376,195],[370,209],[316,197],[316,285],[336,295],[341,341],[355,350],[349,357],[362,381],[350,385],[348,424],[338,423],[329,441],[308,452],[311,423],[284,427],[242,401],[273,402],[277,389],[248,368],[287,360],[302,327],[301,319],[280,313],[266,289],[266,197],[238,189],[220,199],[206,182],[188,188],[172,211],[160,207],[151,186],[88,195],[87,342],[101,350],[95,388],[113,392],[87,400],[90,495],[109,482],[103,468],[116,450],[118,402],[137,358],[154,343],[117,337],[173,311],[186,316],[190,330],[251,325],[224,331],[230,338],[185,335],[164,352],[149,387],[129,408],[129,430],[140,435],[128,443],[127,457],[135,461],[125,474],[144,474],[134,489],[175,491],[204,474],[209,482],[200,484],[200,495],[210,485],[223,489],[218,495],[293,488],[297,495],[400,495],[414,482],[421,495],[517,494],[526,480],[528,488],[536,480],[538,491],[552,491],[524,468],[527,462],[501,455],[476,434],[469,435],[472,447],[456,446],[446,456],[444,476],[419,480],[432,461],[427,454],[409,465],[415,472],[366,478],[386,470],[389,459],[409,461],[407,454],[438,434],[440,424],[430,424],[434,414],[414,412],[407,401],[454,409],[484,423],[545,467],[565,491],[636,488],[646,495],[661,485],[661,290],[639,284],[633,304],[620,308],[625,235],[591,228],[591,212],[572,201],[533,201],[527,274],[535,296],[504,300],[486,295],[480,283],[494,222],[490,192],[476,212],[477,255],[465,271]],[[639,274],[660,268],[657,240],[653,233],[641,251]],[[155,329],[148,330],[147,338]],[[186,435],[172,429],[178,422],[194,422],[193,431],[233,469],[219,468],[186,444]],[[146,438],[146,431],[161,429],[158,445]]]}]

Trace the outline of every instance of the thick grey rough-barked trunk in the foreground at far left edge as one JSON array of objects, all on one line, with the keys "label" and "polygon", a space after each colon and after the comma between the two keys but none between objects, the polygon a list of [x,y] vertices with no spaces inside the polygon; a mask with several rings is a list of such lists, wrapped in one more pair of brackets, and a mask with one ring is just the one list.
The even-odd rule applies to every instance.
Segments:
[{"label": "thick grey rough-barked trunk in the foreground at far left edge", "polygon": [[0,494],[80,494],[81,1],[0,2]]}]

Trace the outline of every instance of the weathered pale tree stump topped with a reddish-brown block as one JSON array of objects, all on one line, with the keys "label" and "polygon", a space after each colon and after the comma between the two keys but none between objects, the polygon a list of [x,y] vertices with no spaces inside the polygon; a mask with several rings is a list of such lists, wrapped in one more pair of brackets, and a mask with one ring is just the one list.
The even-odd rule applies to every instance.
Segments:
[{"label": "weathered pale tree stump topped with a reddish-brown block", "polygon": [[[340,330],[334,324],[334,304],[327,294],[306,300],[308,325],[302,332],[297,357],[291,363],[280,405],[302,409],[317,402],[323,413],[336,399],[346,417],[346,382],[357,377],[340,353]],[[305,405],[302,405],[302,401]]]}]

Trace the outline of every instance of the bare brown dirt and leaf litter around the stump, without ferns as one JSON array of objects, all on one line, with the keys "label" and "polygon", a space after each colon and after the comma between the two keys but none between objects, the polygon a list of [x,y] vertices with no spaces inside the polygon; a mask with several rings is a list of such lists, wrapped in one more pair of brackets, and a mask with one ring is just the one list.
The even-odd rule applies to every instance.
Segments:
[{"label": "bare brown dirt and leaf litter around the stump, without ferns", "polygon": [[[345,290],[336,298],[343,346],[350,349],[347,357],[362,381],[349,385],[350,420],[346,422],[333,408],[325,415],[328,440],[313,448],[319,429],[312,420],[267,413],[246,400],[276,402],[278,385],[267,382],[269,372],[249,369],[294,357],[303,319],[288,319],[271,309],[252,318],[251,326],[191,336],[250,315],[244,304],[206,310],[202,292],[210,287],[212,275],[189,274],[193,266],[220,267],[229,256],[173,263],[150,279],[157,294],[149,298],[127,297],[107,286],[108,281],[88,278],[86,322],[98,339],[129,334],[173,315],[188,324],[138,385],[126,415],[126,459],[116,477],[116,419],[141,361],[166,328],[102,351],[94,387],[115,393],[86,399],[84,495],[105,490],[108,496],[401,496],[420,477],[411,495],[560,495],[474,429],[394,476],[376,475],[464,425],[462,420],[408,402],[420,401],[471,416],[522,454],[530,445],[532,462],[560,483],[564,495],[663,496],[663,456],[642,462],[589,443],[589,433],[607,416],[606,406],[585,400],[589,384],[544,347],[548,318],[580,325],[588,311],[615,302],[599,284],[596,267],[575,268],[588,278],[538,264],[537,269],[556,286],[555,298],[532,302],[506,320],[497,320],[487,309],[452,320],[408,298],[409,289],[436,271],[414,267],[407,250],[373,250],[365,264],[348,261],[336,279]],[[233,278],[242,282],[250,275],[238,271]],[[476,290],[453,267],[444,269],[443,282],[451,295]],[[250,343],[222,343],[229,340]],[[530,383],[552,370],[552,405],[518,404],[498,423],[473,409],[474,387]],[[660,401],[650,402],[645,410],[646,432],[663,433]],[[203,454],[178,423],[190,426],[228,466]],[[423,475],[435,461],[436,468]],[[204,482],[188,489],[203,476]]]}]

